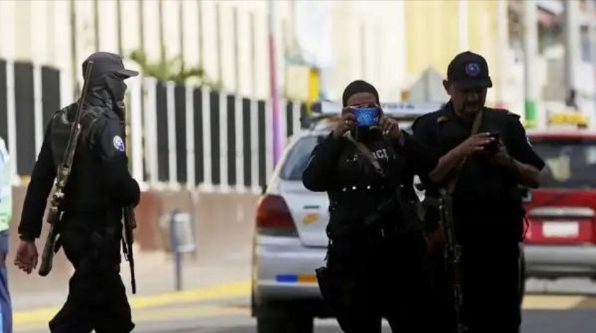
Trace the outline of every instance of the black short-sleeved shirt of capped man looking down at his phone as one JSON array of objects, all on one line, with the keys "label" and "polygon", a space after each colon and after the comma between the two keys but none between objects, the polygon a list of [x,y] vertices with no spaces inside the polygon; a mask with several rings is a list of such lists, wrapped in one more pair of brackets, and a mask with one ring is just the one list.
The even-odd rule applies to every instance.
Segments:
[{"label": "black short-sleeved shirt of capped man looking down at his phone", "polygon": [[[419,117],[414,121],[412,130],[414,137],[432,147],[433,153],[443,156],[469,137],[471,123],[457,117],[451,103],[448,103],[442,110]],[[538,170],[543,169],[545,164],[529,144],[516,114],[484,108],[478,132],[499,133],[511,157]],[[427,195],[438,196],[437,185],[426,177],[422,180]],[[522,207],[517,187],[516,175],[493,164],[487,156],[468,157],[453,194],[456,219],[486,220],[497,216],[495,220],[502,220],[512,214],[518,216]]]}]

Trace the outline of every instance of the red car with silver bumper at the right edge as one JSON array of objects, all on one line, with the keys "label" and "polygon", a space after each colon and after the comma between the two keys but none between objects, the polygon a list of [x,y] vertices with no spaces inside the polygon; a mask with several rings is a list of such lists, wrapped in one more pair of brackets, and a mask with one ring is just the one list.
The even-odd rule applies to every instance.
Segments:
[{"label": "red car with silver bumper at the right edge", "polygon": [[546,163],[527,192],[526,276],[596,278],[596,132],[528,133]]}]

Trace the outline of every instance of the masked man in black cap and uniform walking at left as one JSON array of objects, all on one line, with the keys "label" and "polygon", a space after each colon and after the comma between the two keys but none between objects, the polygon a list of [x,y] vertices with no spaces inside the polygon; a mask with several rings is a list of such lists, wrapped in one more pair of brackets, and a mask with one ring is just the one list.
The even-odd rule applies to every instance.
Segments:
[{"label": "masked man in black cap and uniform walking at left", "polygon": [[56,112],[44,136],[24,201],[15,264],[26,273],[37,266],[46,200],[62,161],[78,103],[82,126],[69,182],[60,205],[58,243],[75,271],[67,301],[51,320],[52,333],[128,333],[134,328],[120,277],[122,211],[139,203],[137,181],[128,172],[124,145],[124,80],[136,76],[120,56],[93,53],[85,101]]}]

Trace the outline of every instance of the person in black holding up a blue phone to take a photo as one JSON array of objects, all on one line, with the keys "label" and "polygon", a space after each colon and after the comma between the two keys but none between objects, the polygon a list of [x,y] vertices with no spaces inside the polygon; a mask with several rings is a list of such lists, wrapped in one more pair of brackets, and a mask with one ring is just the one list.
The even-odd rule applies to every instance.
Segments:
[{"label": "person in black holding up a blue phone to take a photo", "polygon": [[413,179],[437,160],[383,114],[369,83],[350,83],[342,101],[340,121],[303,175],[330,203],[319,287],[344,332],[381,332],[382,318],[393,332],[426,332],[430,281]]}]

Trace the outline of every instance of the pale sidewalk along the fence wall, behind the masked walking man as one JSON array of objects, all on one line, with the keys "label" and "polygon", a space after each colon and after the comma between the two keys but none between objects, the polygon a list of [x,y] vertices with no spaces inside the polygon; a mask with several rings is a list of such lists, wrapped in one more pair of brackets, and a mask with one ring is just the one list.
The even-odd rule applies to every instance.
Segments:
[{"label": "pale sidewalk along the fence wall, behind the masked walking man", "polygon": [[[175,263],[169,253],[135,253],[137,294],[130,291],[128,262],[121,264],[122,280],[131,302],[135,298],[175,291]],[[9,270],[16,270],[11,264]],[[12,273],[9,280],[15,313],[44,307],[58,307],[66,300],[68,277],[41,278],[37,273]],[[53,273],[53,272],[52,272]],[[50,274],[52,274],[50,273]],[[35,275],[35,276],[34,276]],[[186,255],[182,262],[182,289],[204,289],[229,284],[246,284],[250,278],[250,248],[228,249],[220,255]],[[44,279],[48,279],[44,281]]]}]

